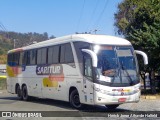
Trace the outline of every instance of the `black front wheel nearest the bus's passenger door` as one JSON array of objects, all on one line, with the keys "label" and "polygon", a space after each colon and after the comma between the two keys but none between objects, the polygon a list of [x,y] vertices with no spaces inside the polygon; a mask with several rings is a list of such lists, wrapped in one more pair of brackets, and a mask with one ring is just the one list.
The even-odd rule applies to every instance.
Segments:
[{"label": "black front wheel nearest the bus's passenger door", "polygon": [[69,102],[70,102],[72,107],[74,107],[76,109],[81,109],[82,108],[82,104],[80,103],[80,99],[79,99],[79,94],[78,94],[78,91],[76,89],[71,91],[69,97],[70,97]]}]

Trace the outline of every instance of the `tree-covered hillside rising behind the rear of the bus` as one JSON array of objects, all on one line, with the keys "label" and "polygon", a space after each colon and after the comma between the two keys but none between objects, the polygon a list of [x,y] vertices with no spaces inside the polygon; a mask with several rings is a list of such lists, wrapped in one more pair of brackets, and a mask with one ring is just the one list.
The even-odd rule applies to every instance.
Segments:
[{"label": "tree-covered hillside rising behind the rear of the bus", "polygon": [[53,35],[48,36],[47,32],[39,33],[18,33],[18,32],[5,32],[0,31],[0,64],[6,63],[7,51],[33,43],[45,41],[55,38]]}]

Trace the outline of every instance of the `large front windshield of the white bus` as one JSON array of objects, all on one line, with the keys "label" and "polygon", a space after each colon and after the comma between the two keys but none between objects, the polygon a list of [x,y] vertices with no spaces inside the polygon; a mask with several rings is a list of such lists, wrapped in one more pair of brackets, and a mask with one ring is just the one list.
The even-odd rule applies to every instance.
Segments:
[{"label": "large front windshield of the white bus", "polygon": [[131,46],[99,46],[97,81],[109,86],[139,83],[137,63]]}]

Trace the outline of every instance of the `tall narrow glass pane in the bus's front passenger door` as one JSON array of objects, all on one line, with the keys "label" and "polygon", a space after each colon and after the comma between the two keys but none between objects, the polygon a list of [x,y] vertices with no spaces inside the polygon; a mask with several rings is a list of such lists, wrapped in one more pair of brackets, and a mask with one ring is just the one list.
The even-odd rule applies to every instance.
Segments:
[{"label": "tall narrow glass pane in the bus's front passenger door", "polygon": [[86,77],[92,77],[92,61],[88,56],[84,56],[84,75]]}]

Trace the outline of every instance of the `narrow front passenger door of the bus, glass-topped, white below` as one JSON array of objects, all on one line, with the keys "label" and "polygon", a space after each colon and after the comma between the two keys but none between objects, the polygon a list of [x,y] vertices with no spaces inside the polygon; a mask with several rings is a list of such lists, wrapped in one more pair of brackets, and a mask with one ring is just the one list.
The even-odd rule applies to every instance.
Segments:
[{"label": "narrow front passenger door of the bus, glass-topped, white below", "polygon": [[83,91],[84,91],[84,101],[87,104],[93,104],[93,70],[92,70],[92,59],[90,55],[84,53],[83,56],[83,68],[84,68],[84,78],[83,78]]}]

